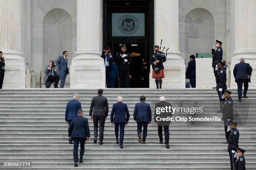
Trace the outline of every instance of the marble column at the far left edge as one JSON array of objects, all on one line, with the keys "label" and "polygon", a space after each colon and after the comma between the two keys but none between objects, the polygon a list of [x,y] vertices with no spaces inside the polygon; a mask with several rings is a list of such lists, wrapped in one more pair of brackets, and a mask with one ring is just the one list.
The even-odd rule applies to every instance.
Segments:
[{"label": "marble column at the far left edge", "polygon": [[0,0],[0,50],[5,57],[3,88],[25,87],[22,2],[23,0]]}]

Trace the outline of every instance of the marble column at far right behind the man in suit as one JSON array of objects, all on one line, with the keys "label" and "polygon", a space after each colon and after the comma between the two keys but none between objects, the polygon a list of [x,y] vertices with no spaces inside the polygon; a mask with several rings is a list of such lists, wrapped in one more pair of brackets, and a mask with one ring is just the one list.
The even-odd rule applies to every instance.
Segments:
[{"label": "marble column at far right behind the man in suit", "polygon": [[[253,71],[256,69],[256,1],[233,0],[232,3],[235,51],[230,65],[230,87],[237,87],[233,69],[241,57],[253,67]],[[249,86],[256,87],[256,76],[252,75]]]}]

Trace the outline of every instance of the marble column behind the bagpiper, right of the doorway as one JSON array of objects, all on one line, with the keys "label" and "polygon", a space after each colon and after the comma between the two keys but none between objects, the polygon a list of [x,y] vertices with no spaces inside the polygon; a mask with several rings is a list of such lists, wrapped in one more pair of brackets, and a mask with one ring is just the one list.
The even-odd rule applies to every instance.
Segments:
[{"label": "marble column behind the bagpiper, right of the doorway", "polygon": [[[179,52],[179,1],[155,0],[154,3],[154,42],[169,47],[164,62],[162,88],[185,87],[185,65]],[[152,77],[152,67],[151,75]],[[150,77],[150,88],[156,88],[155,80]]]}]

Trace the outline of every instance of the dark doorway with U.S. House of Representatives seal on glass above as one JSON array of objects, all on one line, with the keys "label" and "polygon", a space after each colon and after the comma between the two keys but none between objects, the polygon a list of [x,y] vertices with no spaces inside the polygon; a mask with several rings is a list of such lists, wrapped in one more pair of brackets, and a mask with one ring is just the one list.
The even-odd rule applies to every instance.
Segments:
[{"label": "dark doorway with U.S. House of Representatives seal on glass above", "polygon": [[153,39],[154,0],[103,0],[103,47],[110,46],[116,54],[121,44],[127,45],[132,55],[130,87],[143,87],[142,60],[150,61]]}]

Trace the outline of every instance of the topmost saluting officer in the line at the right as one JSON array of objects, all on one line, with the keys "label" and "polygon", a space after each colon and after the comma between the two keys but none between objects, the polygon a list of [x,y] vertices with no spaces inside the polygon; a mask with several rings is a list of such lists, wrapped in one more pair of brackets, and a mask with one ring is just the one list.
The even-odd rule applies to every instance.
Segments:
[{"label": "topmost saluting officer in the line at the right", "polygon": [[[219,40],[216,40],[212,48],[212,68],[215,75],[215,79],[217,79],[217,75],[218,75],[218,71],[216,70],[216,65],[218,65],[218,63],[222,61],[223,50],[221,45],[222,45],[222,42]],[[216,47],[216,50],[215,50],[215,47]]]}]

